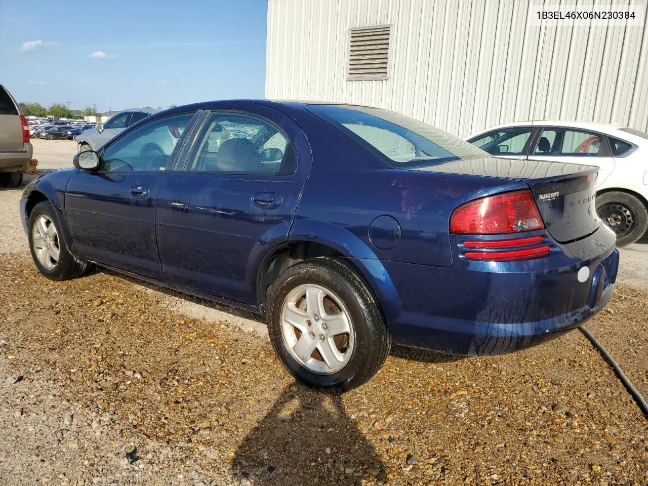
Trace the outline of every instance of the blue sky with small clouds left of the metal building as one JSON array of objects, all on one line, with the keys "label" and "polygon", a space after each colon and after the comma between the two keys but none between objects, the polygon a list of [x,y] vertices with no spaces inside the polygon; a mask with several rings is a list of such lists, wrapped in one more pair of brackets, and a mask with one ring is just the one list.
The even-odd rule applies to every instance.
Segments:
[{"label": "blue sky with small clouds left of the metal building", "polygon": [[264,97],[266,0],[0,0],[0,82],[98,111]]}]

